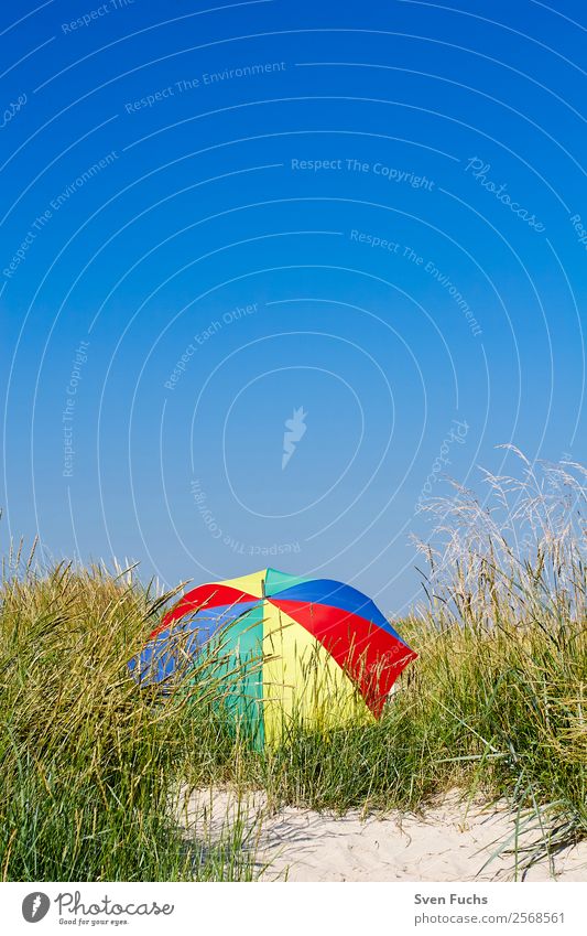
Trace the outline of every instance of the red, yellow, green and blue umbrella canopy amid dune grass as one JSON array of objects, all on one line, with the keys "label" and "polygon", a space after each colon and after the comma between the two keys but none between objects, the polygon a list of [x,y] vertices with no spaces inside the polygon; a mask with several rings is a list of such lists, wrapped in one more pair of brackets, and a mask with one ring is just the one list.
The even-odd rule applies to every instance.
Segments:
[{"label": "red, yellow, green and blue umbrella canopy amid dune grass", "polygon": [[379,718],[417,656],[361,592],[275,569],[187,592],[130,667],[141,682],[165,685],[203,655],[231,674],[226,701],[261,741],[297,717]]}]

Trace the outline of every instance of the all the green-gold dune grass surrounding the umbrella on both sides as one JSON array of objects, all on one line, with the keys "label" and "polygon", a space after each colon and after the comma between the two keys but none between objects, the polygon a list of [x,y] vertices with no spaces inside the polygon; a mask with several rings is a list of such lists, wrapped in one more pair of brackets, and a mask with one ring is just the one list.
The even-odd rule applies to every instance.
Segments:
[{"label": "all the green-gold dune grass surrounding the umbrella on both sides", "polygon": [[[0,609],[0,870],[4,880],[250,880],[244,826],[186,841],[172,789],[262,788],[270,804],[417,809],[454,787],[539,829],[526,861],[587,837],[584,471],[487,476],[433,517],[425,607],[399,623],[420,658],[383,718],[254,750],[226,686],[162,699],[127,660],[172,595],[130,573],[15,561]],[[23,568],[24,564],[24,568]],[[197,664],[196,664],[197,666]],[[214,671],[214,668],[211,668]],[[192,677],[193,677],[192,673]]]}]

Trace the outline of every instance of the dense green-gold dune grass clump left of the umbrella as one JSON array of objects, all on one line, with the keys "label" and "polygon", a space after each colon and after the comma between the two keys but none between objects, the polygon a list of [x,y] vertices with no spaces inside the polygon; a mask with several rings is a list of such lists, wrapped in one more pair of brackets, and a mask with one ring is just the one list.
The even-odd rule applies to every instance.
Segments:
[{"label": "dense green-gold dune grass clump left of the umbrella", "polygon": [[100,569],[29,564],[4,580],[2,880],[251,876],[238,830],[186,842],[169,817],[170,781],[197,745],[188,698],[163,703],[127,670],[166,598]]}]

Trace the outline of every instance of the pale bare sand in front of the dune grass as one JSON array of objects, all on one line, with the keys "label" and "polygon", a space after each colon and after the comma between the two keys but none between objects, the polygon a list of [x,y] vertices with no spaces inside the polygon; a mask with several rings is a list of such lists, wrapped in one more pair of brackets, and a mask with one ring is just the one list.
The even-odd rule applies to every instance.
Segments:
[{"label": "pale bare sand in front of the dune grass", "polygon": [[[184,793],[177,815],[186,833],[218,841],[239,816],[264,881],[587,881],[587,842],[544,859],[525,874],[500,844],[514,832],[506,804],[467,804],[456,792],[422,816],[337,817],[285,807],[271,813],[262,794]],[[535,831],[531,821],[520,846]],[[514,841],[510,842],[513,849]],[[489,863],[488,863],[489,862]]]}]

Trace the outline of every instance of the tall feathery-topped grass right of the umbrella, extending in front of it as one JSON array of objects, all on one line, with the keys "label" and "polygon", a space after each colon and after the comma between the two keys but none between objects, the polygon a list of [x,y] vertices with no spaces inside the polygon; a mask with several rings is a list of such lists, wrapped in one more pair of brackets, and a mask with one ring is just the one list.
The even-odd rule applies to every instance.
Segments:
[{"label": "tall feathery-topped grass right of the umbrella, extending in front of it", "polygon": [[515,454],[521,471],[486,474],[483,501],[456,487],[427,504],[427,600],[398,624],[420,657],[383,718],[294,722],[261,754],[214,741],[194,785],[338,811],[417,809],[458,787],[509,801],[529,861],[587,836],[585,470]]}]

